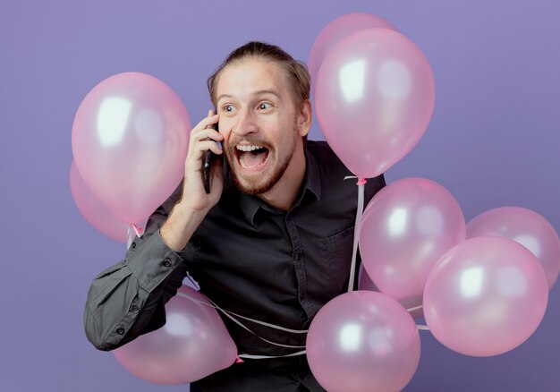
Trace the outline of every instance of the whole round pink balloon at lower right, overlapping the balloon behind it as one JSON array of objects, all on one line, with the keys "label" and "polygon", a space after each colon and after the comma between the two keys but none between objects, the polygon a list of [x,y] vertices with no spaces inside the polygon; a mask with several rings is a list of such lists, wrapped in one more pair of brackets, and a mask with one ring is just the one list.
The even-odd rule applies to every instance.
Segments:
[{"label": "whole round pink balloon at lower right, overlapping the balloon behind it", "polygon": [[527,248],[477,237],[446,252],[429,274],[424,317],[434,337],[457,353],[497,355],[530,337],[547,300],[547,277]]}]

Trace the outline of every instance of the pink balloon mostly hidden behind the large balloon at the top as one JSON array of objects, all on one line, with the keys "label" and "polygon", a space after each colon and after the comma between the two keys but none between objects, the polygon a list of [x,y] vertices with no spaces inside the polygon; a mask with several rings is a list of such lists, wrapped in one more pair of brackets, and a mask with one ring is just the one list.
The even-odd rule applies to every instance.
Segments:
[{"label": "pink balloon mostly hidden behind the large balloon at the top", "polygon": [[313,47],[311,47],[308,60],[311,81],[315,81],[323,60],[341,40],[356,31],[378,28],[396,30],[395,26],[389,21],[371,13],[348,13],[336,18],[334,21],[330,21],[319,32]]}]

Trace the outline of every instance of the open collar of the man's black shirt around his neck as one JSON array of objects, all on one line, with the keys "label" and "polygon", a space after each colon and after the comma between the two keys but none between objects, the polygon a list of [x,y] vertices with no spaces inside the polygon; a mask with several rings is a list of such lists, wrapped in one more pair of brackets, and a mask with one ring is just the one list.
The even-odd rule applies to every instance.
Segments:
[{"label": "open collar of the man's black shirt around his neck", "polygon": [[[306,198],[308,194],[310,195],[310,197],[314,197],[315,200],[319,200],[321,198],[321,176],[319,174],[317,158],[315,158],[308,149],[305,149],[304,152],[306,171],[303,182],[305,183],[305,186],[298,200],[296,201],[296,205],[301,204],[302,200],[304,200],[304,198]],[[276,209],[268,206],[267,203],[263,200],[260,200],[259,197],[239,192],[237,188],[235,188],[235,185],[229,179],[229,168],[227,168],[226,170],[225,178],[228,179],[228,188],[230,195],[233,196],[234,200],[238,202],[243,215],[248,221],[253,222],[253,219],[259,209],[266,209],[270,212],[276,212]],[[279,210],[277,211],[280,212]]]}]

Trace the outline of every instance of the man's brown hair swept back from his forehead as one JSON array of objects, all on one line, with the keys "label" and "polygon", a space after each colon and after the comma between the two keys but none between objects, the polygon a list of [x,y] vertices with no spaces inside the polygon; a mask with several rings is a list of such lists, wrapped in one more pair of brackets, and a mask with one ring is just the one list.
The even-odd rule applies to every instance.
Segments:
[{"label": "man's brown hair swept back from his forehead", "polygon": [[310,98],[310,72],[307,65],[300,61],[294,60],[291,55],[288,55],[281,47],[270,45],[266,42],[251,41],[233,50],[216,71],[214,71],[208,78],[208,92],[210,99],[216,107],[216,81],[224,68],[237,61],[245,58],[257,57],[271,61],[275,61],[284,67],[288,74],[288,79],[292,84],[293,101],[296,108],[301,108],[303,102]]}]

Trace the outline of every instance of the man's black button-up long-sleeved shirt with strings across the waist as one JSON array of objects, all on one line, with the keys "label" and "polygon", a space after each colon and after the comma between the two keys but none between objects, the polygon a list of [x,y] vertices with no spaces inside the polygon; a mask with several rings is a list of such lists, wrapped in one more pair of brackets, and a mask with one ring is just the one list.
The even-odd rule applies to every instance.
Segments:
[{"label": "man's black button-up long-sleeved shirt with strings across the waist", "polygon": [[[306,175],[289,211],[274,209],[237,189],[225,188],[181,253],[170,250],[159,227],[181,197],[181,187],[148,220],[125,260],[94,280],[85,311],[89,340],[111,350],[165,323],[165,303],[187,271],[203,294],[226,311],[284,328],[307,329],[317,311],[347,290],[358,187],[324,141],[308,141]],[[368,181],[365,202],[385,185]],[[129,306],[128,304],[131,303]],[[140,311],[139,311],[140,310]],[[285,355],[305,345],[293,334],[242,320],[256,335],[224,318],[239,354]],[[305,356],[246,360],[196,383],[200,390],[322,390]],[[223,389],[221,389],[223,388]]]}]

